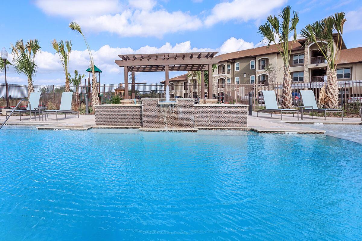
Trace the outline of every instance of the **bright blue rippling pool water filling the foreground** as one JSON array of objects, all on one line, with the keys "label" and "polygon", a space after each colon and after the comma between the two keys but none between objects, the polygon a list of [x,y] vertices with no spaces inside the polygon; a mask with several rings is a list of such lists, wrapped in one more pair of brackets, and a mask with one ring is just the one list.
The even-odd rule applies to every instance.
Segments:
[{"label": "bright blue rippling pool water filling the foreground", "polygon": [[362,145],[326,135],[0,131],[0,240],[361,240]]}]

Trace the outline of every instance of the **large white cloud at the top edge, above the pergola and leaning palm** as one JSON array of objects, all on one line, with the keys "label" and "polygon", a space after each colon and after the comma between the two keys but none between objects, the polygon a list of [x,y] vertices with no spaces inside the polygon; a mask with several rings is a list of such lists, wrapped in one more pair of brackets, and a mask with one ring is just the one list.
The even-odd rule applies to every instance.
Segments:
[{"label": "large white cloud at the top edge, above the pergola and leaning palm", "polygon": [[[154,36],[167,33],[193,31],[202,21],[189,12],[154,9],[155,0],[130,0],[121,7],[117,0],[36,0],[43,12],[76,21],[82,29],[92,32],[109,32],[121,36]],[[84,9],[86,6],[86,10]]]}]

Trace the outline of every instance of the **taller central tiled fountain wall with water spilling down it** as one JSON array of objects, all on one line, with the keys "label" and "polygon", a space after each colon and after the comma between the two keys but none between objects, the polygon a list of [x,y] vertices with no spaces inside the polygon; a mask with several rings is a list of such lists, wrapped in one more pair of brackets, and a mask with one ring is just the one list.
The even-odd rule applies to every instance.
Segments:
[{"label": "taller central tiled fountain wall with water spilling down it", "polygon": [[159,99],[142,100],[143,128],[193,129],[194,99],[176,99],[177,104],[160,105]]}]

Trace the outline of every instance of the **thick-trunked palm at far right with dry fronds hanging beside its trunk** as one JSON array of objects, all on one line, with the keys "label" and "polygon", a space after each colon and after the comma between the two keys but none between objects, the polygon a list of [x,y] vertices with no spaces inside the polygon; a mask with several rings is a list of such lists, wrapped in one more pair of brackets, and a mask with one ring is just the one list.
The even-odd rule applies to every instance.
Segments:
[{"label": "thick-trunked palm at far right with dry fronds hanging beside its trunk", "polygon": [[[307,39],[306,43],[315,43],[323,54],[329,68],[327,84],[325,85],[325,108],[333,109],[338,106],[338,82],[336,60],[342,47],[343,25],[346,22],[345,13],[335,13],[321,21],[308,24],[300,33]],[[336,51],[334,46],[333,31],[338,34]]]}]

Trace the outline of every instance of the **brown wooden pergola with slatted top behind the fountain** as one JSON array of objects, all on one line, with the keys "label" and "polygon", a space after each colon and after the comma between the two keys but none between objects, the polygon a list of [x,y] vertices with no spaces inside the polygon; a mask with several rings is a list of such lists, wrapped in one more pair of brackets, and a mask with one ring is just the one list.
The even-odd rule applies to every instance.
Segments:
[{"label": "brown wooden pergola with slatted top behind the fountain", "polygon": [[[212,65],[218,64],[215,57],[218,52],[193,53],[146,53],[132,55],[118,55],[121,60],[115,60],[125,71],[125,89],[128,90],[128,73],[132,73],[132,98],[134,98],[135,72],[165,72],[165,85],[169,84],[169,71],[201,71],[201,93],[205,93],[205,70],[209,71],[209,98],[212,99]],[[211,80],[211,81],[210,81]],[[125,99],[129,99],[125,91]]]}]

